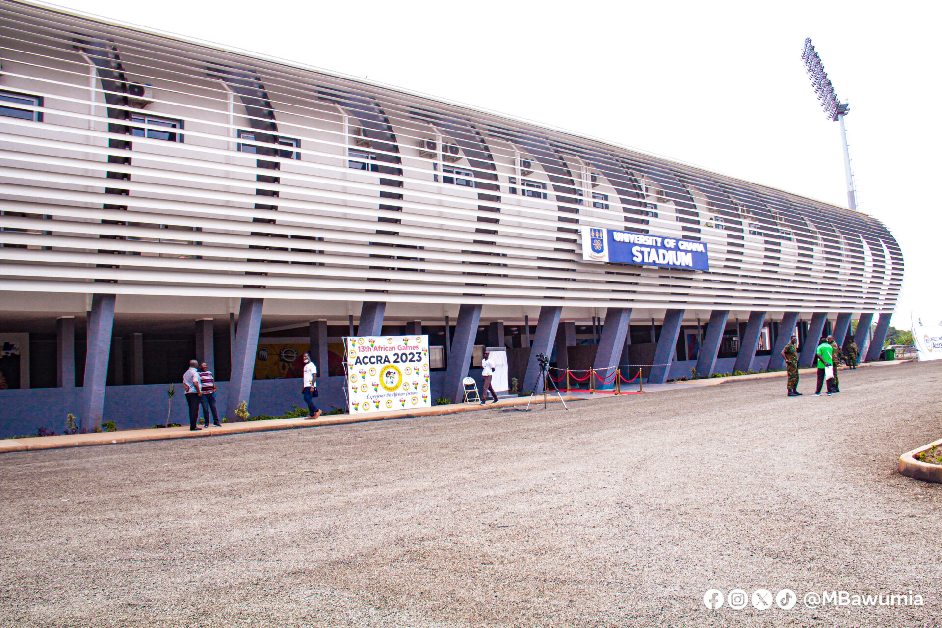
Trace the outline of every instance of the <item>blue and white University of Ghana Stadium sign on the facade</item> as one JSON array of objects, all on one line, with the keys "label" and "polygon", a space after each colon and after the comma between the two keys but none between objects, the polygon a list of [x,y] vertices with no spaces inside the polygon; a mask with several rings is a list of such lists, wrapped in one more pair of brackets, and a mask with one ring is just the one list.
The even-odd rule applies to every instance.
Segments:
[{"label": "blue and white University of Ghana Stadium sign on the facade", "polygon": [[595,227],[582,227],[582,259],[709,270],[709,254],[703,242]]}]

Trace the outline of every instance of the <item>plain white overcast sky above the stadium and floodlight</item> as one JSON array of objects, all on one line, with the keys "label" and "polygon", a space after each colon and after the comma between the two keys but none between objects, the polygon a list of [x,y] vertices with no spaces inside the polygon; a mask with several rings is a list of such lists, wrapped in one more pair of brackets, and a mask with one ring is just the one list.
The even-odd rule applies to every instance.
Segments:
[{"label": "plain white overcast sky above the stadium and floodlight", "polygon": [[847,118],[857,207],[900,241],[893,319],[942,318],[937,2],[57,0],[512,114],[847,206],[840,132],[804,73],[818,49]]}]

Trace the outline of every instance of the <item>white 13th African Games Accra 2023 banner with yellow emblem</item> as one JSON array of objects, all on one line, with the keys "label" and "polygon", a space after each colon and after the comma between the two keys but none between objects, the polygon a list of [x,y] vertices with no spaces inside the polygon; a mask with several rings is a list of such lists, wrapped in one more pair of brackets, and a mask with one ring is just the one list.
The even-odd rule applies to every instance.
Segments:
[{"label": "white 13th African Games Accra 2023 banner with yellow emblem", "polygon": [[429,408],[429,336],[347,338],[349,412]]}]

